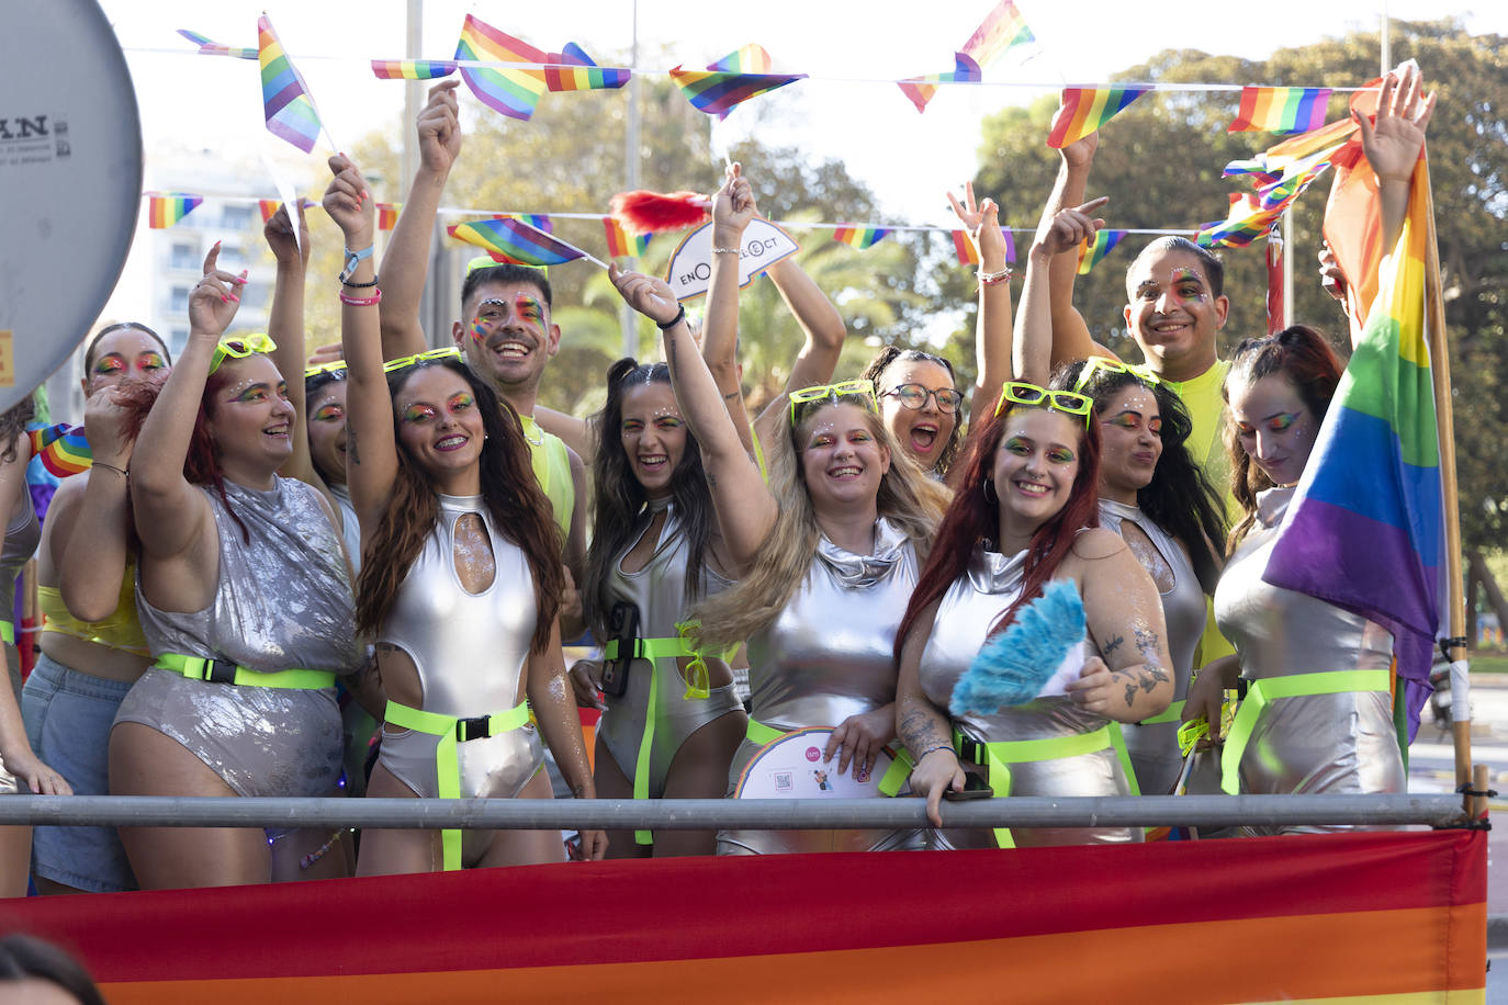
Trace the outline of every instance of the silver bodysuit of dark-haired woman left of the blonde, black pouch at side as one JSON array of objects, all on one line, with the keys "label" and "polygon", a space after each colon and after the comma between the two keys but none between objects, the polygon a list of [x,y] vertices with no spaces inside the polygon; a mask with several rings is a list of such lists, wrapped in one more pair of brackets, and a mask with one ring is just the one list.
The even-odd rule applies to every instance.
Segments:
[{"label": "silver bodysuit of dark-haired woman left of the blonde, black pouch at side", "polygon": [[[674,639],[676,624],[686,616],[686,535],[682,530],[676,509],[668,506],[670,500],[654,500],[639,520],[638,533],[617,561],[608,583],[608,597],[617,603],[629,603],[639,610],[641,639]],[[654,553],[644,568],[636,573],[623,570],[623,559],[638,545],[654,521],[654,514],[670,508],[665,523],[661,527]],[[701,567],[701,595],[707,597],[728,588],[728,580],[718,576],[709,565]],[[715,655],[704,655],[709,672],[725,663]],[[654,737],[650,746],[650,777],[648,797],[659,799],[665,794],[665,776],[676,752],[691,738],[694,732],[715,719],[721,719],[731,711],[742,714],[743,705],[733,692],[733,684],[710,689],[707,698],[683,698],[686,681],[680,675],[679,661],[665,657],[661,660],[633,660],[629,666],[629,687],[621,698],[603,696],[608,711],[602,713],[597,723],[597,737],[608,747],[612,759],[629,782],[635,782],[639,759],[639,744],[644,738],[644,726],[650,707],[650,678],[654,681],[656,714]],[[728,674],[731,677],[731,674]]]}]

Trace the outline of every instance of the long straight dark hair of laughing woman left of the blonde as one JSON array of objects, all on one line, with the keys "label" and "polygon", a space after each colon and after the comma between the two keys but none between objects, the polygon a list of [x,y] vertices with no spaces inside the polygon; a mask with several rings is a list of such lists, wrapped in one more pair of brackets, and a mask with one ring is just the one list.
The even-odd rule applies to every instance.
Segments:
[{"label": "long straight dark hair of laughing woman left of the blonde", "polygon": [[[670,387],[670,369],[665,363],[641,366],[633,359],[621,359],[609,366],[608,401],[591,420],[593,435],[597,438],[597,454],[591,463],[596,497],[591,506],[591,547],[587,548],[587,583],[581,598],[587,624],[599,639],[606,637],[608,612],[612,607],[612,564],[632,544],[635,530],[639,529],[639,514],[648,502],[617,437],[623,425],[623,396],[642,384]],[[680,532],[686,536],[683,595],[686,607],[691,607],[701,598],[701,573],[716,512],[701,463],[701,446],[689,428],[686,452],[671,473],[670,493]]]}]

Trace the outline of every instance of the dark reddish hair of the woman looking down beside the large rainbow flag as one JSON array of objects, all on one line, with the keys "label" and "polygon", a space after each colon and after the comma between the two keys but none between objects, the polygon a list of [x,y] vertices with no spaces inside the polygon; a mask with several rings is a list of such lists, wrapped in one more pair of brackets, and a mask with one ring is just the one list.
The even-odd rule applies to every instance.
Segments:
[{"label": "dark reddish hair of the woman looking down beside the large rainbow flag", "polygon": [[[1300,401],[1304,402],[1318,423],[1330,410],[1330,399],[1335,396],[1336,384],[1341,383],[1342,369],[1335,350],[1320,331],[1306,324],[1295,324],[1277,334],[1243,339],[1235,347],[1235,356],[1231,357],[1231,369],[1220,387],[1220,395],[1229,407],[1232,387],[1252,384],[1276,374],[1292,384]],[[1231,454],[1231,494],[1241,503],[1244,514],[1231,527],[1231,536],[1226,541],[1226,554],[1229,556],[1256,524],[1256,494],[1274,485],[1273,479],[1252,463],[1246,448],[1241,446],[1235,422],[1226,422],[1224,437],[1226,451]]]}]

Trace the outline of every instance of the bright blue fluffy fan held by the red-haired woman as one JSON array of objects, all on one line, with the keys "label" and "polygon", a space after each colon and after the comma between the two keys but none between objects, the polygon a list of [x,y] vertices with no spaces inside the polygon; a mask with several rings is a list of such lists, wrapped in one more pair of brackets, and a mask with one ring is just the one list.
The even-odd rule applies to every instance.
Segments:
[{"label": "bright blue fluffy fan held by the red-haired woman", "polygon": [[[1083,640],[1084,601],[1078,589],[1068,580],[1050,582],[1009,628],[980,646],[958,678],[949,708],[955,716],[988,716],[1006,705],[1024,705],[1042,693],[1066,660],[1081,652]],[[1072,669],[1077,674],[1078,667]]]}]

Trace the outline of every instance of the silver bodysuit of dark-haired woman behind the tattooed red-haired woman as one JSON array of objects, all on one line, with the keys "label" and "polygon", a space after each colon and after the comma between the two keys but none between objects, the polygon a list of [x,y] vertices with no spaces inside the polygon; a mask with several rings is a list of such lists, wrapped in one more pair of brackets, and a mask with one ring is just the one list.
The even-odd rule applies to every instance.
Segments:
[{"label": "silver bodysuit of dark-haired woman behind the tattooed red-haired woman", "polygon": [[1158,564],[1166,565],[1173,579],[1172,589],[1161,594],[1163,619],[1167,622],[1167,649],[1173,657],[1175,704],[1163,716],[1169,722],[1122,726],[1126,750],[1131,753],[1131,767],[1136,770],[1142,794],[1167,796],[1178,784],[1178,773],[1182,770],[1182,755],[1178,752],[1178,713],[1184,698],[1188,696],[1194,652],[1205,633],[1205,591],[1199,585],[1199,577],[1194,576],[1188,553],[1178,541],[1148,520],[1140,508],[1101,499],[1099,526],[1120,533],[1122,523],[1136,524],[1157,548],[1157,554],[1145,556],[1140,553],[1142,548],[1131,547],[1154,582],[1158,579],[1160,570],[1155,568]]}]

